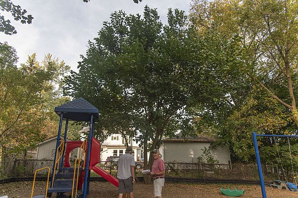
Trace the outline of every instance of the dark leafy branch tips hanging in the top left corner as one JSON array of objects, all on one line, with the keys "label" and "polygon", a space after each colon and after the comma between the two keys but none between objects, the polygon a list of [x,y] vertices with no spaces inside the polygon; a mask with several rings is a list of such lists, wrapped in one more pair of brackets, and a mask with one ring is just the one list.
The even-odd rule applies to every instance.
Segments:
[{"label": "dark leafy branch tips hanging in the top left corner", "polygon": [[[21,23],[32,22],[32,15],[26,14],[27,11],[22,9],[19,5],[15,5],[11,0],[1,0],[0,1],[0,10],[11,13],[15,21],[21,21]],[[5,19],[3,15],[0,14],[0,32],[4,34],[12,35],[16,34],[15,28],[10,24],[9,19]]]}]

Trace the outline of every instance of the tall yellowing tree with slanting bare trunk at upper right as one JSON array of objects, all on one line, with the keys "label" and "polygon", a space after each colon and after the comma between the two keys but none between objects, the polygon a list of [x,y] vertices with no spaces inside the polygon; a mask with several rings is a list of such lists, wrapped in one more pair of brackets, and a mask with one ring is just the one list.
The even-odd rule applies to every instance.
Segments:
[{"label": "tall yellowing tree with slanting bare trunk at upper right", "polygon": [[194,0],[191,20],[200,33],[235,35],[245,51],[247,76],[292,113],[298,127],[298,2]]}]

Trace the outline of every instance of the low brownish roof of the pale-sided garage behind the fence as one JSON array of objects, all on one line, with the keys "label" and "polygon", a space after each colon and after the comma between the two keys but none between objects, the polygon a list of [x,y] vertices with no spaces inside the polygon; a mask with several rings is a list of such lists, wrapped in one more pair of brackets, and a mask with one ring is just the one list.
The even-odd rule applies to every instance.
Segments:
[{"label": "low brownish roof of the pale-sided garage behind the fence", "polygon": [[197,142],[197,143],[212,143],[215,141],[214,138],[206,137],[206,136],[185,136],[182,137],[181,133],[177,134],[177,137],[167,137],[162,140],[163,142],[178,142],[178,143],[189,143],[189,142]]}]

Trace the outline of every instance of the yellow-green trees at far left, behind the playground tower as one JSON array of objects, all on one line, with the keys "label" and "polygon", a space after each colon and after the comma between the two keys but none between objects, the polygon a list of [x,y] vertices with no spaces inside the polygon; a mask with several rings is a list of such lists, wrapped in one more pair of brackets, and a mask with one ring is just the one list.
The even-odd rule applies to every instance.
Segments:
[{"label": "yellow-green trees at far left, behind the playground tower", "polygon": [[58,87],[69,66],[51,55],[40,63],[35,54],[20,67],[16,63],[15,50],[1,44],[0,145],[23,154],[37,142],[56,135],[59,118],[54,107],[67,100],[61,98]]}]

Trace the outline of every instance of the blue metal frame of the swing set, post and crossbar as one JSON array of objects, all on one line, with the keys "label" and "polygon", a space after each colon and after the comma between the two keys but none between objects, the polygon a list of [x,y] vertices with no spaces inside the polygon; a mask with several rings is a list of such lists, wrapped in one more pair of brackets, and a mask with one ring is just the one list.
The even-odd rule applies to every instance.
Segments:
[{"label": "blue metal frame of the swing set, post and crossbar", "polygon": [[258,148],[258,142],[257,142],[257,136],[298,137],[298,135],[266,135],[266,134],[256,134],[255,132],[252,132],[252,139],[253,139],[253,145],[254,145],[254,148],[255,148],[256,160],[257,160],[257,165],[258,165],[258,172],[259,172],[260,185],[261,185],[261,190],[262,190],[262,197],[267,198],[266,190],[265,190],[264,177],[263,177],[263,171],[262,171],[262,166],[261,166],[261,159],[260,159],[259,148]]}]

